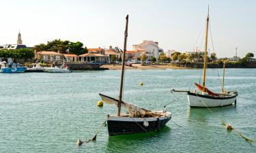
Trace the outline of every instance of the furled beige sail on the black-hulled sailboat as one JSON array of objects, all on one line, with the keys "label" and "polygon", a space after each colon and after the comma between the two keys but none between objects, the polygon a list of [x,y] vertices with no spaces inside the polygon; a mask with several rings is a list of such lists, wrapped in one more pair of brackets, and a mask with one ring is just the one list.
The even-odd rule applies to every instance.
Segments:
[{"label": "furled beige sail on the black-hulled sailboat", "polygon": [[[112,97],[108,97],[106,95],[100,94],[100,97],[104,103],[108,103],[110,105],[118,105],[119,100],[114,99]],[[121,106],[128,109],[130,116],[144,116],[145,114],[149,113],[150,111],[143,109],[141,107],[138,107],[137,105],[134,105],[133,103],[125,103],[122,101]]]}]

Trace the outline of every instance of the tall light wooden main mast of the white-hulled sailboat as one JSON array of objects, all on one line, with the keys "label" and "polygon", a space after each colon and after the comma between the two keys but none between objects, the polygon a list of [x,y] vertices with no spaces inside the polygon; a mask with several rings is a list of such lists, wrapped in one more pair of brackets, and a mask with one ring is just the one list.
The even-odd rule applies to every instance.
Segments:
[{"label": "tall light wooden main mast of the white-hulled sailboat", "polygon": [[204,46],[204,59],[203,59],[203,90],[205,92],[205,73],[207,65],[207,43],[208,43],[208,23],[209,23],[209,5],[208,5],[208,16],[206,19],[206,32],[205,32],[205,46]]}]

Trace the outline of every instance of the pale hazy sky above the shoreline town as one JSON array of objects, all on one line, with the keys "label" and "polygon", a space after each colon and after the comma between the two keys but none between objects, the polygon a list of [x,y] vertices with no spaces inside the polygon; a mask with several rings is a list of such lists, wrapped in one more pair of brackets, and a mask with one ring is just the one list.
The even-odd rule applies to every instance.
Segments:
[{"label": "pale hazy sky above the shoreline town", "polygon": [[[143,40],[163,50],[203,50],[210,5],[210,52],[218,57],[256,55],[254,0],[0,0],[0,44],[46,44],[53,39],[81,41],[87,48],[123,48],[129,14],[128,50]],[[212,39],[211,39],[212,36]],[[213,47],[212,47],[213,42]],[[213,49],[214,48],[214,49]]]}]

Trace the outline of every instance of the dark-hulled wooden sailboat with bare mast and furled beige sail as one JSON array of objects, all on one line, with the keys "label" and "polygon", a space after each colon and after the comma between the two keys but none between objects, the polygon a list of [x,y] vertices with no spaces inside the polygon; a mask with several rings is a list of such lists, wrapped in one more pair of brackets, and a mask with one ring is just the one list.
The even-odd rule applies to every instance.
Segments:
[{"label": "dark-hulled wooden sailboat with bare mast and furled beige sail", "polygon": [[[124,36],[124,52],[122,60],[122,74],[119,91],[119,99],[114,99],[106,95],[100,94],[103,102],[116,105],[118,107],[117,114],[107,116],[107,125],[109,135],[124,135],[131,133],[145,133],[147,131],[155,131],[162,129],[165,124],[171,120],[171,112],[165,110],[150,111],[122,101],[123,84],[124,84],[124,65],[126,56],[126,39],[128,31],[128,15],[126,16],[126,31]],[[128,113],[121,114],[121,107],[128,110]]]}]

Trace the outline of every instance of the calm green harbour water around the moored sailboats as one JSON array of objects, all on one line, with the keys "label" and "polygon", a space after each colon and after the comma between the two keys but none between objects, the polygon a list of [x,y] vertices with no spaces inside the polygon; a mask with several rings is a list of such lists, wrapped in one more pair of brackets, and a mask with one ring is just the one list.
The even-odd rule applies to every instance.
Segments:
[{"label": "calm green harbour water around the moored sailboats", "polygon": [[[208,69],[207,86],[221,90],[221,69]],[[194,89],[201,69],[128,70],[124,101],[145,109],[168,110],[173,122],[165,129],[109,137],[107,128],[97,141],[76,146],[93,137],[116,107],[97,107],[98,93],[117,97],[120,71],[79,73],[0,74],[0,152],[256,152],[235,131],[227,132],[220,119],[256,140],[256,69],[226,69],[225,88],[238,90],[236,107],[190,109],[186,94],[171,88]],[[139,86],[143,82],[143,86]],[[242,97],[248,97],[244,99]],[[124,111],[124,110],[123,110]]]}]

